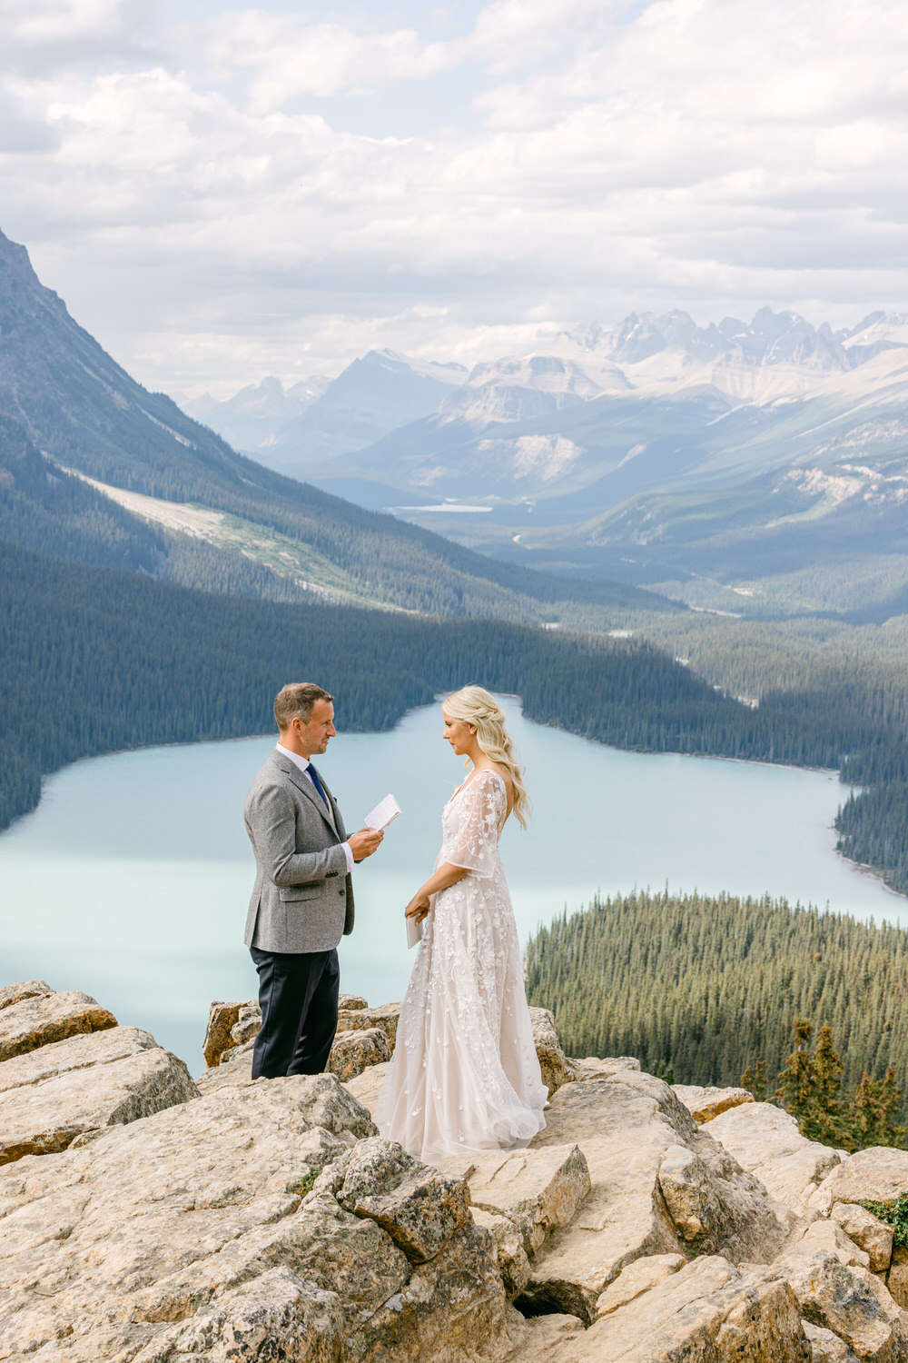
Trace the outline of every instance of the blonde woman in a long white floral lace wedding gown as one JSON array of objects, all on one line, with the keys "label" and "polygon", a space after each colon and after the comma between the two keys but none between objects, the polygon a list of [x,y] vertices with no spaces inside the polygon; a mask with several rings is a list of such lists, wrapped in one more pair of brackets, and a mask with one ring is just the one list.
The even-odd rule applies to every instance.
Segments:
[{"label": "blonde woman in a long white floral lace wedding gown", "polygon": [[444,737],[472,767],[441,816],[436,870],[406,908],[427,919],[373,1118],[410,1154],[527,1145],[546,1124],[517,928],[498,838],[527,826],[523,767],[494,696],[468,686],[444,703]]}]

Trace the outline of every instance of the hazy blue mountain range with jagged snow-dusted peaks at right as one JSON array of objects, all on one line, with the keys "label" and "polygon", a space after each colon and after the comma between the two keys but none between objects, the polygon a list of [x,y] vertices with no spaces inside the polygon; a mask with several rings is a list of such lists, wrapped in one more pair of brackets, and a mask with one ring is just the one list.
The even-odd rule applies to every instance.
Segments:
[{"label": "hazy blue mountain range with jagged snow-dusted peaks at right", "polygon": [[[833,331],[769,308],[708,327],[632,313],[463,382],[449,368],[417,417],[433,388],[425,365],[404,384],[408,364],[357,361],[259,457],[486,553],[712,608],[858,609],[908,586],[905,315]],[[398,387],[410,406],[391,427]],[[365,429],[377,388],[388,429],[321,458],[361,401]]]}]

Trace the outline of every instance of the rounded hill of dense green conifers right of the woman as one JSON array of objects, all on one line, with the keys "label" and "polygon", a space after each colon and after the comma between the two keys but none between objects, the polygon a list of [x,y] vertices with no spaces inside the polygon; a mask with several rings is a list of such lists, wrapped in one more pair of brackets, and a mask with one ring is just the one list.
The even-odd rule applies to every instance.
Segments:
[{"label": "rounded hill of dense green conifers right of the woman", "polygon": [[799,1017],[832,1026],[847,1089],[888,1066],[901,1082],[907,972],[905,928],[732,895],[618,895],[527,947],[530,1002],[568,1055],[636,1055],[678,1084],[736,1085],[764,1060],[775,1088]]}]

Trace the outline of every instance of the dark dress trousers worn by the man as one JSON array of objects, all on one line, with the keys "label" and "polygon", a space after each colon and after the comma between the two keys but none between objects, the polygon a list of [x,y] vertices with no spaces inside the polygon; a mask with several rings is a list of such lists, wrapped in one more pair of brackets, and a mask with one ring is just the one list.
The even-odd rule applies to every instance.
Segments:
[{"label": "dark dress trousers worn by the man", "polygon": [[260,951],[261,1030],[252,1051],[252,1077],[321,1074],[338,1030],[338,951]]}]

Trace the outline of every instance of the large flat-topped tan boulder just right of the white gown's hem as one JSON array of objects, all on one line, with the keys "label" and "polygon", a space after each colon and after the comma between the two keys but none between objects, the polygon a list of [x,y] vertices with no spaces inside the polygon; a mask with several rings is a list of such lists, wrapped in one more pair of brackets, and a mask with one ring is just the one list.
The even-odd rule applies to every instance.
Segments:
[{"label": "large flat-topped tan boulder just right of the white gown's hem", "polygon": [[[587,1159],[591,1193],[570,1225],[539,1250],[524,1289],[530,1310],[570,1313],[589,1323],[599,1296],[625,1265],[648,1255],[685,1254],[689,1242],[682,1228],[690,1231],[692,1223],[689,1208],[682,1206],[685,1180],[677,1163],[671,1165],[674,1206],[682,1228],[660,1186],[663,1159],[672,1146],[700,1161],[686,1175],[694,1180],[690,1197],[707,1197],[717,1209],[709,1227],[696,1232],[694,1247],[749,1262],[768,1262],[779,1253],[788,1223],[779,1220],[766,1190],[705,1127],[697,1127],[662,1079],[625,1070],[607,1079],[566,1084],[553,1097],[546,1120],[531,1149],[576,1142]],[[666,1183],[668,1169],[663,1169]]]}]

